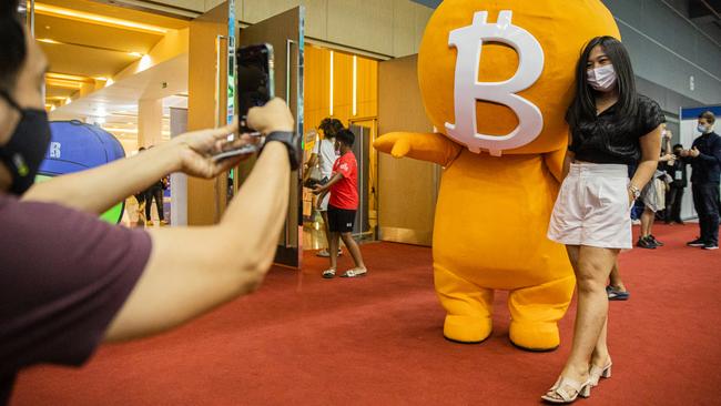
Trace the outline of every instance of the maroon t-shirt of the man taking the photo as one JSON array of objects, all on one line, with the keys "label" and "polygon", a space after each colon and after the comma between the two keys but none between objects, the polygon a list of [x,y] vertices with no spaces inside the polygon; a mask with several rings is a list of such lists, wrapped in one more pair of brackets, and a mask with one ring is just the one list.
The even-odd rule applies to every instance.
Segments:
[{"label": "maroon t-shirt of the man taking the photo", "polygon": [[150,251],[143,231],[0,193],[0,405],[21,368],[90,357]]}]

